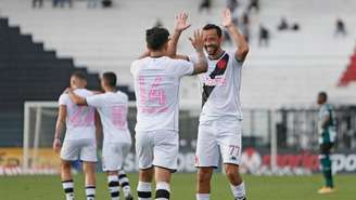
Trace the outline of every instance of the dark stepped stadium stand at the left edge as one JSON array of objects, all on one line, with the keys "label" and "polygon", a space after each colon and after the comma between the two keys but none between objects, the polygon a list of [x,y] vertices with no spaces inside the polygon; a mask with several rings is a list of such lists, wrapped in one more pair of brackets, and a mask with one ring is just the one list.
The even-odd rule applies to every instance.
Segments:
[{"label": "dark stepped stadium stand at the left edge", "polygon": [[[58,58],[54,51],[44,51],[43,43],[33,42],[31,35],[22,35],[20,27],[10,27],[0,18],[0,145],[21,146],[23,106],[25,101],[53,101],[68,85],[75,70],[72,58]],[[89,88],[99,88],[98,74],[88,75]]]}]

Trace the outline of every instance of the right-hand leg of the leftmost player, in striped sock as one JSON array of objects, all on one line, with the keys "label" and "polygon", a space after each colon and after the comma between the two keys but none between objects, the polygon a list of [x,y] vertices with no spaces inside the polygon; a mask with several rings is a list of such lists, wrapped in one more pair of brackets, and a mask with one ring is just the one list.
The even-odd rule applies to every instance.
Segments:
[{"label": "right-hand leg of the leftmost player, in striped sock", "polygon": [[87,200],[96,199],[96,162],[84,162],[82,171],[86,176]]}]

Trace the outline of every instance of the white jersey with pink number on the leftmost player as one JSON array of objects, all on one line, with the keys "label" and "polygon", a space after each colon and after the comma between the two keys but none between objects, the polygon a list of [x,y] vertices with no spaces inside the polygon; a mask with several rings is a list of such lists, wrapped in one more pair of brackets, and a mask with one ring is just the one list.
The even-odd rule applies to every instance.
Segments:
[{"label": "white jersey with pink number on the leftmost player", "polygon": [[[93,95],[87,89],[76,89],[74,91],[81,97]],[[88,106],[77,106],[68,94],[62,94],[59,99],[60,105],[66,106],[66,132],[65,139],[96,138],[96,109]]]}]

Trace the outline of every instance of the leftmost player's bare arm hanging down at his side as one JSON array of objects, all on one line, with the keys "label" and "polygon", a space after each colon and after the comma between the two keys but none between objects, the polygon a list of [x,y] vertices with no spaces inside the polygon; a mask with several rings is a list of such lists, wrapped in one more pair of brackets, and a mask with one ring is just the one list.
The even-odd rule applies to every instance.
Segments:
[{"label": "leftmost player's bare arm hanging down at his side", "polygon": [[66,106],[60,105],[59,108],[59,117],[56,119],[55,123],[55,133],[54,133],[54,139],[53,139],[53,150],[59,154],[61,150],[61,136],[64,131],[64,124],[66,119]]}]

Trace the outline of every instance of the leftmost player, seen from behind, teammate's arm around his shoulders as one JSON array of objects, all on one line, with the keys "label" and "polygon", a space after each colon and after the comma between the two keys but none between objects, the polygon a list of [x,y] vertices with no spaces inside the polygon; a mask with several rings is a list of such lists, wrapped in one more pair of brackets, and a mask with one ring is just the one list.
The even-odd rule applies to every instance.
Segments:
[{"label": "leftmost player, seen from behind, teammate's arm around his shoulders", "polygon": [[[82,97],[93,95],[86,90],[87,81],[82,72],[74,72],[71,76],[71,88]],[[93,107],[77,106],[67,93],[60,96],[59,117],[55,125],[53,149],[61,151],[61,178],[66,200],[74,199],[74,183],[71,174],[71,162],[80,159],[86,177],[87,200],[96,198],[96,109]],[[63,146],[61,134],[66,125]]]}]

